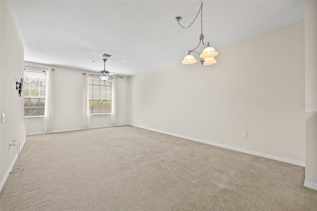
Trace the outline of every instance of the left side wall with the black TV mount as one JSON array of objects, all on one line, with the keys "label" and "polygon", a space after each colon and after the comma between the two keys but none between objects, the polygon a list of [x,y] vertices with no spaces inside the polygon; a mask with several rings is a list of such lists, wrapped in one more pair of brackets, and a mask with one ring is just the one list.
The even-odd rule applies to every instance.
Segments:
[{"label": "left side wall with the black TV mount", "polygon": [[5,121],[0,123],[0,189],[2,188],[16,156],[16,149],[9,142],[25,140],[23,96],[18,96],[16,78],[23,78],[24,49],[16,30],[6,0],[0,1],[0,113]]}]

